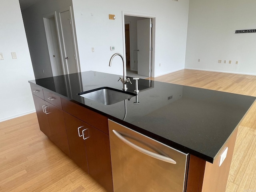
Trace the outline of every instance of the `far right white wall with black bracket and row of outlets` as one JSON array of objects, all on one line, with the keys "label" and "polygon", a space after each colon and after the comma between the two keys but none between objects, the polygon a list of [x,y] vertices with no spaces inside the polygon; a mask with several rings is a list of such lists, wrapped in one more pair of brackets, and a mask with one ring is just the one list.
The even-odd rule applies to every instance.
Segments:
[{"label": "far right white wall with black bracket and row of outlets", "polygon": [[185,68],[256,74],[256,33],[235,34],[256,29],[255,7],[255,0],[191,0]]}]

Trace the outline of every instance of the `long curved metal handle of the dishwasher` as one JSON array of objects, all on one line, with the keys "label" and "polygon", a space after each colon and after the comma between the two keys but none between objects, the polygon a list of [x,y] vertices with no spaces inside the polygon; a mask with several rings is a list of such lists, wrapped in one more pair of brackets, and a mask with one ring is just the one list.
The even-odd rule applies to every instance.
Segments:
[{"label": "long curved metal handle of the dishwasher", "polygon": [[176,164],[176,161],[174,161],[172,158],[170,157],[166,157],[166,156],[163,156],[163,155],[160,155],[160,154],[157,154],[157,153],[154,153],[154,152],[151,152],[151,151],[148,151],[144,148],[141,148],[135,144],[133,144],[132,142],[128,141],[126,138],[124,138],[119,132],[117,132],[116,130],[112,130],[114,132],[114,134],[120,139],[122,140],[122,142],[124,142],[125,144],[127,144],[128,146],[138,150],[139,152],[142,152],[148,156],[151,156],[153,158],[156,158],[158,160],[161,160],[161,161],[164,161],[164,162],[168,162],[168,163],[171,163],[171,164]]}]

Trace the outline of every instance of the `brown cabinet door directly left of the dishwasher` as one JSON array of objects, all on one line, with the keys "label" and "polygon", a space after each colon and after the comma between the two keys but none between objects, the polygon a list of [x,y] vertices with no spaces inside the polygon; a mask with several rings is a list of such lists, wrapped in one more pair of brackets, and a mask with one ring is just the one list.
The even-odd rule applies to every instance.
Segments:
[{"label": "brown cabinet door directly left of the dishwasher", "polygon": [[109,137],[90,126],[85,140],[89,174],[108,192],[113,191]]}]

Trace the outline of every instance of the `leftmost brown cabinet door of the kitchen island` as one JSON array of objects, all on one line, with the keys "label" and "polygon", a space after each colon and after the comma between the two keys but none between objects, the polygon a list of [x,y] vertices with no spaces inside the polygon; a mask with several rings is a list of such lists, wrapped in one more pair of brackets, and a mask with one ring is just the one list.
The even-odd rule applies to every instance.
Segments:
[{"label": "leftmost brown cabinet door of the kitchen island", "polygon": [[36,108],[36,115],[38,118],[38,123],[40,126],[40,130],[50,138],[51,131],[50,126],[48,122],[48,116],[44,113],[43,107],[45,106],[45,101],[39,98],[38,96],[32,94],[35,108]]}]

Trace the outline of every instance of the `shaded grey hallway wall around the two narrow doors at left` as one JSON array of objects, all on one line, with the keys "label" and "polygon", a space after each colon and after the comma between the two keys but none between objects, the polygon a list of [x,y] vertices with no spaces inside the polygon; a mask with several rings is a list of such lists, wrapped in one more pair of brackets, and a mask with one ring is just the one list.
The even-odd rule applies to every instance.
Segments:
[{"label": "shaded grey hallway wall around the two narrow doors at left", "polygon": [[[22,11],[35,78],[52,76],[43,17],[72,6],[72,0],[40,0]],[[44,73],[43,73],[44,70]]]}]

